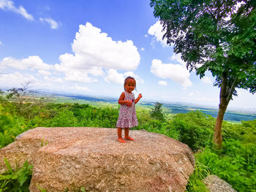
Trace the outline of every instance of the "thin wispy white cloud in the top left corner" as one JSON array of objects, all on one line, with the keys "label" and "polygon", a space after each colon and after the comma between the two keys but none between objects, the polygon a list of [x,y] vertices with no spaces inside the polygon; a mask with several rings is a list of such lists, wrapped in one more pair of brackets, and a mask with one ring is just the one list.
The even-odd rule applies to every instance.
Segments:
[{"label": "thin wispy white cloud in the top left corner", "polygon": [[13,1],[10,0],[0,0],[0,9],[16,12],[27,20],[34,20],[33,16],[29,14],[22,5],[20,5],[20,7],[15,7]]}]

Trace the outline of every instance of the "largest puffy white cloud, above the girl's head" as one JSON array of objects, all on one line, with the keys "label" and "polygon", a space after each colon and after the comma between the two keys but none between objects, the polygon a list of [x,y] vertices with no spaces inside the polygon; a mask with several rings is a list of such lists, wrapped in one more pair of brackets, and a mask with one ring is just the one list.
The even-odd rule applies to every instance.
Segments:
[{"label": "largest puffy white cloud, above the girl's head", "polygon": [[83,60],[82,65],[86,66],[135,70],[140,63],[140,54],[131,40],[115,42],[91,23],[80,25],[72,50],[75,57],[79,55]]}]

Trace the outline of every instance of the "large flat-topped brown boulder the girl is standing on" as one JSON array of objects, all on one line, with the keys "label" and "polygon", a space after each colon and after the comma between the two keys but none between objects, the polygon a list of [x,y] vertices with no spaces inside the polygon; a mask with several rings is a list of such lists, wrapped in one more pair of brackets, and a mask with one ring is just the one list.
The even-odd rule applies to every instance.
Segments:
[{"label": "large flat-topped brown boulder the girl is standing on", "polygon": [[192,150],[161,134],[129,135],[135,141],[123,144],[116,128],[34,128],[0,150],[0,173],[7,169],[4,158],[13,167],[28,160],[30,191],[39,191],[36,184],[48,191],[185,191]]}]

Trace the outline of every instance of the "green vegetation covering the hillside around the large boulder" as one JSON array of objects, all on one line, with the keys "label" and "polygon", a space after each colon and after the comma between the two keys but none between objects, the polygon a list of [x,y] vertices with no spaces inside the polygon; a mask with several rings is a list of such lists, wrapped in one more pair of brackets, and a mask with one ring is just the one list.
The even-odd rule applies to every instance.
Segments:
[{"label": "green vegetation covering the hillside around the large boulder", "polygon": [[[44,100],[44,99],[39,99]],[[222,150],[214,148],[215,118],[203,112],[170,115],[162,113],[162,105],[152,111],[137,109],[139,126],[186,143],[195,153],[195,172],[187,191],[206,191],[203,178],[216,174],[237,191],[255,191],[256,186],[256,120],[241,124],[223,123]],[[24,110],[24,109],[29,110]],[[162,115],[160,115],[162,114]],[[40,101],[7,100],[0,96],[0,147],[15,140],[18,134],[37,126],[92,126],[115,128],[118,109],[92,107],[89,104],[53,104]],[[7,164],[8,166],[8,164]],[[0,175],[0,191],[12,191],[18,186],[28,187],[31,166],[10,170]],[[18,175],[18,176],[17,176]],[[81,186],[82,187],[82,186]]]}]

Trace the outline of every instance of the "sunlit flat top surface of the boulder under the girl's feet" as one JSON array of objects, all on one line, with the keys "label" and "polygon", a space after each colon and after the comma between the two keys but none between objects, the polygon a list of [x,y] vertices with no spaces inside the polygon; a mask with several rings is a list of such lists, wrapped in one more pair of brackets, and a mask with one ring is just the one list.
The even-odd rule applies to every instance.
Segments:
[{"label": "sunlit flat top surface of the boulder under the girl's feet", "polygon": [[[124,134],[124,133],[123,133]],[[37,127],[16,137],[16,140],[38,139],[44,150],[58,153],[139,153],[162,155],[168,153],[187,153],[194,164],[187,145],[162,134],[146,130],[129,130],[135,141],[118,142],[116,128],[95,127]],[[184,148],[187,149],[184,151]]]}]

